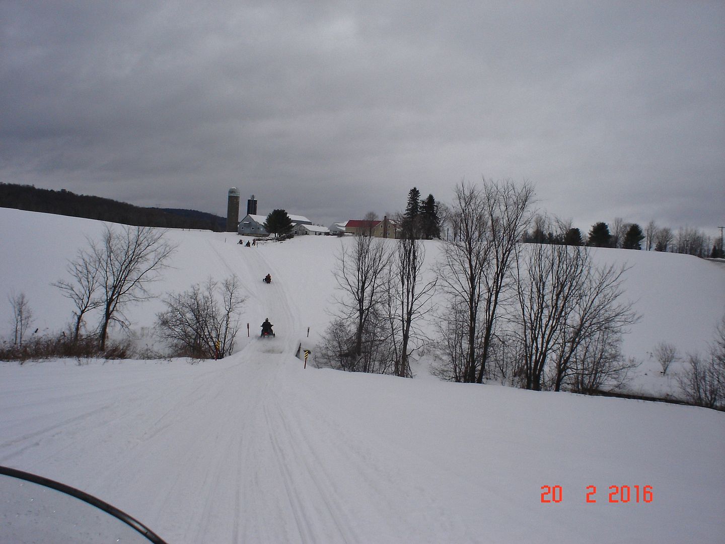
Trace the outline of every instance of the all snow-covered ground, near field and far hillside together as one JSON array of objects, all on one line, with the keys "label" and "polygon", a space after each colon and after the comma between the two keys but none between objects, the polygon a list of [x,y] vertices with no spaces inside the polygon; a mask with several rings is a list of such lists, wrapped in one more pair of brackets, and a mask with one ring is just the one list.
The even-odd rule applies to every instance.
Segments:
[{"label": "all snow-covered ground, near field and far hillside together", "polygon": [[[70,303],[50,283],[101,228],[0,208],[5,337],[12,293],[28,297],[33,328],[65,326]],[[302,368],[299,342],[314,346],[330,320],[339,239],[245,248],[233,234],[167,236],[178,250],[158,294],[208,276],[244,281],[238,351],[193,365],[0,363],[1,465],[85,490],[175,543],[725,541],[725,414],[444,383],[425,358],[412,380]],[[431,261],[436,252],[428,244]],[[643,316],[624,344],[642,361],[633,388],[671,391],[649,354],[660,340],[704,350],[725,311],[725,266],[596,257],[632,265],[627,294]],[[153,342],[161,307],[130,311],[139,342]],[[270,341],[254,338],[266,316]],[[542,503],[545,485],[560,486],[559,503]],[[612,485],[629,486],[628,503],[609,502]],[[652,486],[653,500],[637,502],[635,486]]]}]

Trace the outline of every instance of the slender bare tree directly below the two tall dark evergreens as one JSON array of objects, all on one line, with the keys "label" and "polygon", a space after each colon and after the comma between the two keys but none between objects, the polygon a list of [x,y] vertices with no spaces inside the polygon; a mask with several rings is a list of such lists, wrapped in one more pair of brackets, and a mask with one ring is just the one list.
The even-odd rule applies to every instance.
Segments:
[{"label": "slender bare tree directly below the two tall dark evergreens", "polygon": [[415,333],[415,321],[430,308],[436,280],[422,284],[423,262],[426,252],[423,243],[405,236],[397,241],[387,289],[387,307],[394,350],[394,374],[410,377],[408,358]]}]

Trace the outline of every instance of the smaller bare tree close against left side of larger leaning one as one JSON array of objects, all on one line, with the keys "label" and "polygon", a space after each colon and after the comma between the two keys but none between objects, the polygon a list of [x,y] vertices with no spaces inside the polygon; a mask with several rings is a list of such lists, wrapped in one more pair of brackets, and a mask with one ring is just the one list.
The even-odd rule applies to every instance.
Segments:
[{"label": "smaller bare tree close against left side of larger leaning one", "polygon": [[73,310],[73,342],[78,342],[80,327],[83,325],[83,316],[91,310],[99,308],[102,300],[98,297],[99,291],[99,261],[94,253],[81,250],[67,265],[71,280],[59,280],[53,285],[61,289],[64,297],[72,300]]}]

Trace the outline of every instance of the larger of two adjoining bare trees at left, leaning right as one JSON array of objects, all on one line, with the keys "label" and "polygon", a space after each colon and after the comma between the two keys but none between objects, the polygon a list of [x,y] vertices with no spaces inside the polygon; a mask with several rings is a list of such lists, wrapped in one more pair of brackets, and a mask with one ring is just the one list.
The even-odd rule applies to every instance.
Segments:
[{"label": "larger of two adjoining bare trees at left, leaning right", "polygon": [[164,231],[149,227],[106,226],[100,244],[91,244],[91,255],[99,267],[99,343],[105,349],[111,323],[128,326],[123,309],[131,302],[152,297],[147,287],[159,277],[174,247],[165,242]]}]

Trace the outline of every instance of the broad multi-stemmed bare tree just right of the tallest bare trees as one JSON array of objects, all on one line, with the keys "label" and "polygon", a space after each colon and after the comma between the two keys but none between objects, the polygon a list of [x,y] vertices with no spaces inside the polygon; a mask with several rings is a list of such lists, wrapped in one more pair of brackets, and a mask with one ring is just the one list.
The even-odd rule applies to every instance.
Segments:
[{"label": "broad multi-stemmed bare tree just right of the tallest bare trees", "polygon": [[622,302],[626,268],[596,268],[589,248],[529,245],[517,267],[524,387],[578,390],[624,376],[621,333],[637,315]]}]

